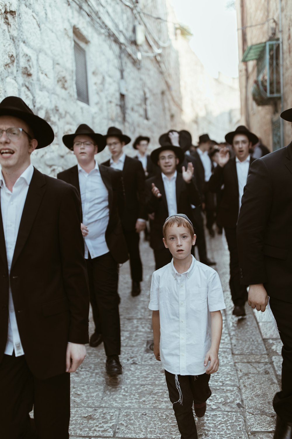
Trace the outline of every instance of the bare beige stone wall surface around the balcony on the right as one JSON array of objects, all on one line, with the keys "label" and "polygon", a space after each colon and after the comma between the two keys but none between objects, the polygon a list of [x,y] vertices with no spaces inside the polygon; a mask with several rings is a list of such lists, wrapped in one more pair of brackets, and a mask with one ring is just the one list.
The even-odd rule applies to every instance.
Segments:
[{"label": "bare beige stone wall surface around the balcony on the right", "polygon": [[[241,121],[261,137],[272,150],[272,119],[281,113],[281,101],[258,106],[252,99],[251,90],[257,79],[257,61],[242,63],[246,48],[257,43],[280,38],[279,11],[281,4],[283,40],[283,85],[284,109],[292,107],[292,2],[290,0],[236,0],[239,43],[239,88],[241,99]],[[284,145],[291,141],[291,124],[283,122]]]}]

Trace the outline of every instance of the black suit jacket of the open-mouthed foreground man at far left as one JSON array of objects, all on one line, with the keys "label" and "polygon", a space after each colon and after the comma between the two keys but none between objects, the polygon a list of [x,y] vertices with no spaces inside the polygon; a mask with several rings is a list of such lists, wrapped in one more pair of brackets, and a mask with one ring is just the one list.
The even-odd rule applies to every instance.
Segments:
[{"label": "black suit jacket of the open-mouthed foreground man at far left", "polygon": [[34,169],[10,276],[0,216],[0,361],[7,342],[9,280],[25,360],[37,378],[65,372],[67,342],[88,343],[83,253],[76,189]]}]

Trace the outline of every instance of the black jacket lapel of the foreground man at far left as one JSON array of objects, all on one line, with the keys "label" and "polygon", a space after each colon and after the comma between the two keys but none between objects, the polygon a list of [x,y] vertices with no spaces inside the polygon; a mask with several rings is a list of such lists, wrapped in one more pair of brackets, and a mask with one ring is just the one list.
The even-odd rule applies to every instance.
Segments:
[{"label": "black jacket lapel of the foreground man at far left", "polygon": [[35,216],[42,201],[42,197],[46,191],[45,185],[46,181],[44,175],[37,169],[34,169],[32,181],[28,188],[28,194],[26,196],[25,205],[21,216],[11,269],[15,261],[18,259],[28,235],[30,234]]}]

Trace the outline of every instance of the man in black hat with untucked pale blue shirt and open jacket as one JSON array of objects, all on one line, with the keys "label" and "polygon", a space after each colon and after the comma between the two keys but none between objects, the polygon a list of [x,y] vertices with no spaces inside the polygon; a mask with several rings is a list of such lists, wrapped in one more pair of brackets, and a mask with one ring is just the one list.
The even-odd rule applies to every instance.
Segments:
[{"label": "man in black hat with untucked pale blue shirt and open jacket", "polygon": [[120,221],[124,202],[122,173],[95,160],[95,154],[106,147],[106,142],[89,126],[78,126],[74,134],[63,136],[63,142],[78,162],[57,178],[76,187],[81,197],[81,231],[95,323],[89,344],[96,347],[103,341],[107,373],[121,374],[118,264],[128,259]]}]

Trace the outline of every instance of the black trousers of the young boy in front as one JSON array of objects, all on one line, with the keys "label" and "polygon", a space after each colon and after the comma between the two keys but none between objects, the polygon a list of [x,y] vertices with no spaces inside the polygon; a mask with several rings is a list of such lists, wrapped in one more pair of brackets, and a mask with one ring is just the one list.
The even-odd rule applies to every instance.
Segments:
[{"label": "black trousers of the young boy in front", "polygon": [[166,384],[169,391],[169,399],[173,404],[177,426],[181,439],[197,439],[197,428],[193,417],[193,403],[200,404],[207,401],[211,396],[209,387],[210,376],[208,374],[177,375],[179,387],[183,395],[182,404],[179,400],[179,392],[176,388],[175,375],[165,371]]}]

